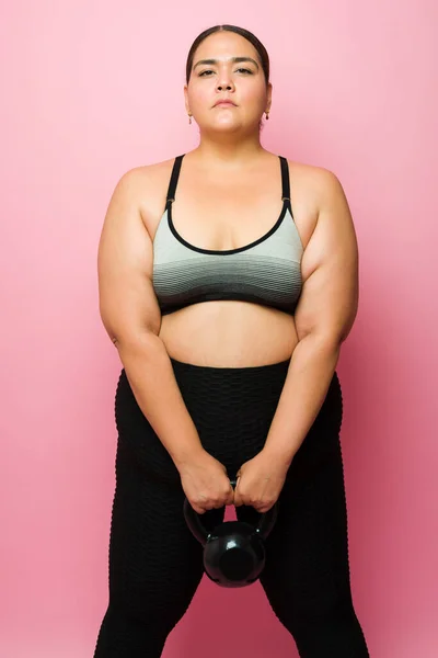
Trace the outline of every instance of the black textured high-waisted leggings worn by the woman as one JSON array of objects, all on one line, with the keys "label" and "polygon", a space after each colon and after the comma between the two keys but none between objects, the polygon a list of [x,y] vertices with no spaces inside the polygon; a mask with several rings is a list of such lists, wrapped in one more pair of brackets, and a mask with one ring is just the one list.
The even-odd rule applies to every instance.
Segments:
[{"label": "black textured high-waisted leggings worn by the woman", "polygon": [[[235,477],[264,445],[289,360],[249,367],[171,363],[203,446]],[[350,591],[342,415],[335,373],[289,467],[260,577],[301,658],[369,657]],[[159,658],[203,577],[203,547],[183,517],[180,474],[137,405],[124,370],[115,417],[110,601],[94,658]],[[249,521],[258,518],[251,507],[235,513]],[[209,510],[203,520],[212,527],[223,514],[224,508]]]}]

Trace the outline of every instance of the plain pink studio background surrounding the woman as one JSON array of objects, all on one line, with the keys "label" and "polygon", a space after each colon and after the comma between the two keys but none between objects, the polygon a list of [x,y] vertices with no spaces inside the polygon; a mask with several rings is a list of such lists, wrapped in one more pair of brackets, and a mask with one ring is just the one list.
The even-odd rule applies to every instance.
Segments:
[{"label": "plain pink studio background surrounding the woman", "polygon": [[[120,370],[99,316],[97,241],[126,170],[196,145],[186,54],[200,31],[229,22],[270,54],[265,147],[331,169],[350,204],[360,308],[338,373],[354,601],[373,658],[433,658],[437,3],[219,5],[1,9],[0,654],[92,656],[107,603]],[[205,658],[208,647],[219,658],[231,639],[242,658],[297,655],[260,583],[203,580],[164,657]]]}]

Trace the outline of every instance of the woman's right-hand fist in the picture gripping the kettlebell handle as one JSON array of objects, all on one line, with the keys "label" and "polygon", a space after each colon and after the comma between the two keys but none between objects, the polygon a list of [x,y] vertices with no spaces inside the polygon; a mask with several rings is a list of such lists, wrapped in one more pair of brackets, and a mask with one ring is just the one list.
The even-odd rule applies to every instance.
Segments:
[{"label": "woman's right-hand fist in the picture gripping the kettlebell handle", "polygon": [[289,464],[264,453],[263,450],[242,464],[237,476],[234,506],[251,506],[257,512],[267,512],[278,500]]}]

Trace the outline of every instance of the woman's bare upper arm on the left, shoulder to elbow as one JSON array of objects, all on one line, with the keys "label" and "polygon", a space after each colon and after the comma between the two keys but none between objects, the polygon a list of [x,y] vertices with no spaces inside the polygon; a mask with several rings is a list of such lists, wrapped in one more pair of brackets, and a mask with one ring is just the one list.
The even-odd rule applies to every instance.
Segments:
[{"label": "woman's bare upper arm on the left, shoulder to elbow", "polygon": [[141,177],[134,169],[118,181],[99,243],[100,313],[113,342],[158,333],[161,322],[152,286],[152,241],[140,214]]}]

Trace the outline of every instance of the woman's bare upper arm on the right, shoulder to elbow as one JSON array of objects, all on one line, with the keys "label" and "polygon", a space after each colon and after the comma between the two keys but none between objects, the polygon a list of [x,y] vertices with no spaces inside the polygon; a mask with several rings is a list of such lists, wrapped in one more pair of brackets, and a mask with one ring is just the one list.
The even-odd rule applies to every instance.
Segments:
[{"label": "woman's bare upper arm on the right, shoulder to elbow", "polygon": [[306,272],[295,320],[298,338],[318,333],[344,341],[358,308],[358,248],[344,190],[321,170],[321,201],[314,231],[302,256]]}]

